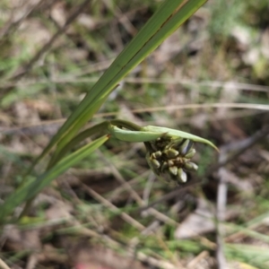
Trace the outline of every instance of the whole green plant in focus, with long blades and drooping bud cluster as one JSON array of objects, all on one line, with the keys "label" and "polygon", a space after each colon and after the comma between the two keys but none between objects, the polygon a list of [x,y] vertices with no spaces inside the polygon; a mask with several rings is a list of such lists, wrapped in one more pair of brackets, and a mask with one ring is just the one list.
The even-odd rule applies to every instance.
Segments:
[{"label": "whole green plant in focus, with long blades and drooping bud cluster", "polygon": [[[101,144],[108,141],[110,136],[127,142],[145,143],[148,152],[147,160],[158,176],[164,177],[169,173],[169,177],[178,182],[187,180],[183,169],[196,169],[195,164],[189,161],[195,153],[190,141],[207,143],[212,146],[213,143],[193,134],[156,126],[140,127],[121,120],[107,121],[78,133],[105,102],[109,93],[117,88],[117,83],[205,2],[206,0],[166,0],[161,4],[149,22],[117,56],[78,108],[51,139],[46,149],[31,166],[22,186],[5,200],[1,206],[0,221],[6,221],[6,217],[13,212],[14,207],[22,202],[27,202],[27,208],[31,199],[43,187],[48,186],[66,169],[99,148]],[[100,138],[65,156],[71,148],[92,134],[100,134]],[[31,170],[53,149],[54,153],[48,163],[48,169],[38,178],[30,178]]]}]

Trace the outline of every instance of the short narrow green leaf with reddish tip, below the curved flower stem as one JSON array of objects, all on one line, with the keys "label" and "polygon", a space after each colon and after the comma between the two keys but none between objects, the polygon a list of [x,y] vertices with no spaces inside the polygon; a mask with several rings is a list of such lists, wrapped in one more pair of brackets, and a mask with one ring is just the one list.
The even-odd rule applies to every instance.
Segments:
[{"label": "short narrow green leaf with reddish tip, below the curved flower stem", "polygon": [[10,195],[0,206],[0,222],[6,219],[6,216],[13,212],[13,209],[22,204],[25,201],[30,200],[35,195],[47,187],[50,182],[65,172],[65,170],[74,166],[78,161],[81,161],[83,158],[94,152],[100,147],[103,143],[108,140],[108,135],[102,136],[99,139],[83,146],[78,151],[68,155],[62,161],[59,161],[56,166],[52,169],[48,169],[47,172],[40,175],[37,179],[32,179],[24,183],[21,187],[17,188],[12,195]]}]

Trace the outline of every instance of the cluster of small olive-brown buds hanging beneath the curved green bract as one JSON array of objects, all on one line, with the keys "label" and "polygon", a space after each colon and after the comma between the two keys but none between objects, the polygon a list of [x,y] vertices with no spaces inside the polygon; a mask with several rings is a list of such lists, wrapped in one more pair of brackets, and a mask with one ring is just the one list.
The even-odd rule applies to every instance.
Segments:
[{"label": "cluster of small olive-brown buds hanging beneath the curved green bract", "polygon": [[151,142],[152,152],[148,152],[147,161],[155,174],[173,180],[178,184],[187,182],[187,172],[195,171],[198,166],[190,161],[195,155],[193,141],[163,135]]}]

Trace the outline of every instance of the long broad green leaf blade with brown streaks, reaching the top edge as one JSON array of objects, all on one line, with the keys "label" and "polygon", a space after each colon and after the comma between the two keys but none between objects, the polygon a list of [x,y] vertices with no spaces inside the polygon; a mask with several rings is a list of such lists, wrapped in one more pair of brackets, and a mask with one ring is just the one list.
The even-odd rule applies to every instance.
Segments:
[{"label": "long broad green leaf blade with brown streaks, reaching the top edge", "polygon": [[40,158],[59,141],[61,143],[57,151],[60,151],[97,112],[100,105],[108,98],[108,94],[117,87],[117,83],[205,2],[206,0],[166,0],[161,4],[143,29],[91,88],[79,107],[48,144]]}]

